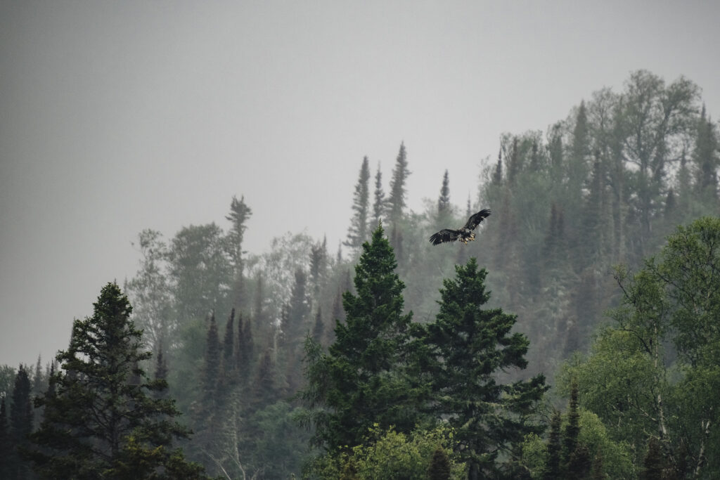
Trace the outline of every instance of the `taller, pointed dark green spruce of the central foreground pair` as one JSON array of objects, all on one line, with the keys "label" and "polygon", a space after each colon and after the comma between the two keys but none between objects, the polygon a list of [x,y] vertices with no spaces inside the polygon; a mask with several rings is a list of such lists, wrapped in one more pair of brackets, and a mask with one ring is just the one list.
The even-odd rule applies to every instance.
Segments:
[{"label": "taller, pointed dark green spruce of the central foreground pair", "polygon": [[302,399],[310,407],[315,443],[329,450],[361,445],[375,423],[409,432],[417,420],[402,376],[412,314],[403,313],[405,285],[396,267],[378,227],[355,268],[357,294],[343,294],[346,321],[336,323],[335,342],[323,353],[312,338],[306,341]]}]

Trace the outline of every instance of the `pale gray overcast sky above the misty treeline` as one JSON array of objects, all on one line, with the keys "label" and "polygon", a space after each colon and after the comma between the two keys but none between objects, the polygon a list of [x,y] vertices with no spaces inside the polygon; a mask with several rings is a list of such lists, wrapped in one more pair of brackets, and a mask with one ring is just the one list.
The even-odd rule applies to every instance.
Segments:
[{"label": "pale gray overcast sky above the misty treeline", "polygon": [[346,235],[364,155],[464,205],[503,132],[646,68],[720,114],[714,1],[0,0],[0,363],[47,361],[144,228],[244,195],[246,245]]}]

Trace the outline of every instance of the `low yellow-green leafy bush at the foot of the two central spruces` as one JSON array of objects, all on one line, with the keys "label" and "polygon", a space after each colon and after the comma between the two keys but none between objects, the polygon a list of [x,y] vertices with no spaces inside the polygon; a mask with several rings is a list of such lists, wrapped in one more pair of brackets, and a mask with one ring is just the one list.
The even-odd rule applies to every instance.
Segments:
[{"label": "low yellow-green leafy bush at the foot of the two central spruces", "polygon": [[[405,434],[376,424],[362,445],[316,459],[312,473],[328,480],[463,479],[467,475],[465,466],[456,460],[453,448],[452,432],[445,427]],[[436,457],[438,460],[433,461]]]}]

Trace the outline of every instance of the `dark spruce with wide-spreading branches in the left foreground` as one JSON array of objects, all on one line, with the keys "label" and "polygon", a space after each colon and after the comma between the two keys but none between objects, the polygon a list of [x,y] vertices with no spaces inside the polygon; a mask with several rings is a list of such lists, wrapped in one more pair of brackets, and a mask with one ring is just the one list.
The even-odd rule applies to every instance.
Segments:
[{"label": "dark spruce with wide-spreading branches in the left foreground", "polygon": [[[137,366],[152,353],[143,351],[130,312],[120,288],[107,284],[92,317],[73,322],[70,346],[57,356],[63,371],[53,373],[48,391],[35,401],[45,407],[45,419],[30,435],[38,448],[28,455],[41,476],[205,478],[202,466],[171,449],[189,431],[173,420],[179,415],[174,401],[153,398],[166,382],[147,379]],[[129,381],[132,376],[140,381]]]}]

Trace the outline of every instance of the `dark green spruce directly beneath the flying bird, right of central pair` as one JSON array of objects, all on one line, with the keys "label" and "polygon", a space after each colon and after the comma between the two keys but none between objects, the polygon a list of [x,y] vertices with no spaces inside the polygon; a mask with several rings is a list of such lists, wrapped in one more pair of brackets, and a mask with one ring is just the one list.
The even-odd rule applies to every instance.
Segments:
[{"label": "dark green spruce directly beneath the flying bird, right of central pair", "polygon": [[419,330],[415,358],[424,373],[417,378],[430,386],[431,411],[456,429],[459,456],[469,465],[469,479],[477,480],[498,475],[500,453],[539,431],[529,417],[547,387],[542,375],[498,383],[498,371],[526,368],[529,342],[510,333],[515,315],[483,309],[490,299],[487,271],[474,258],[455,271],[455,279],[443,282],[436,320]]}]

